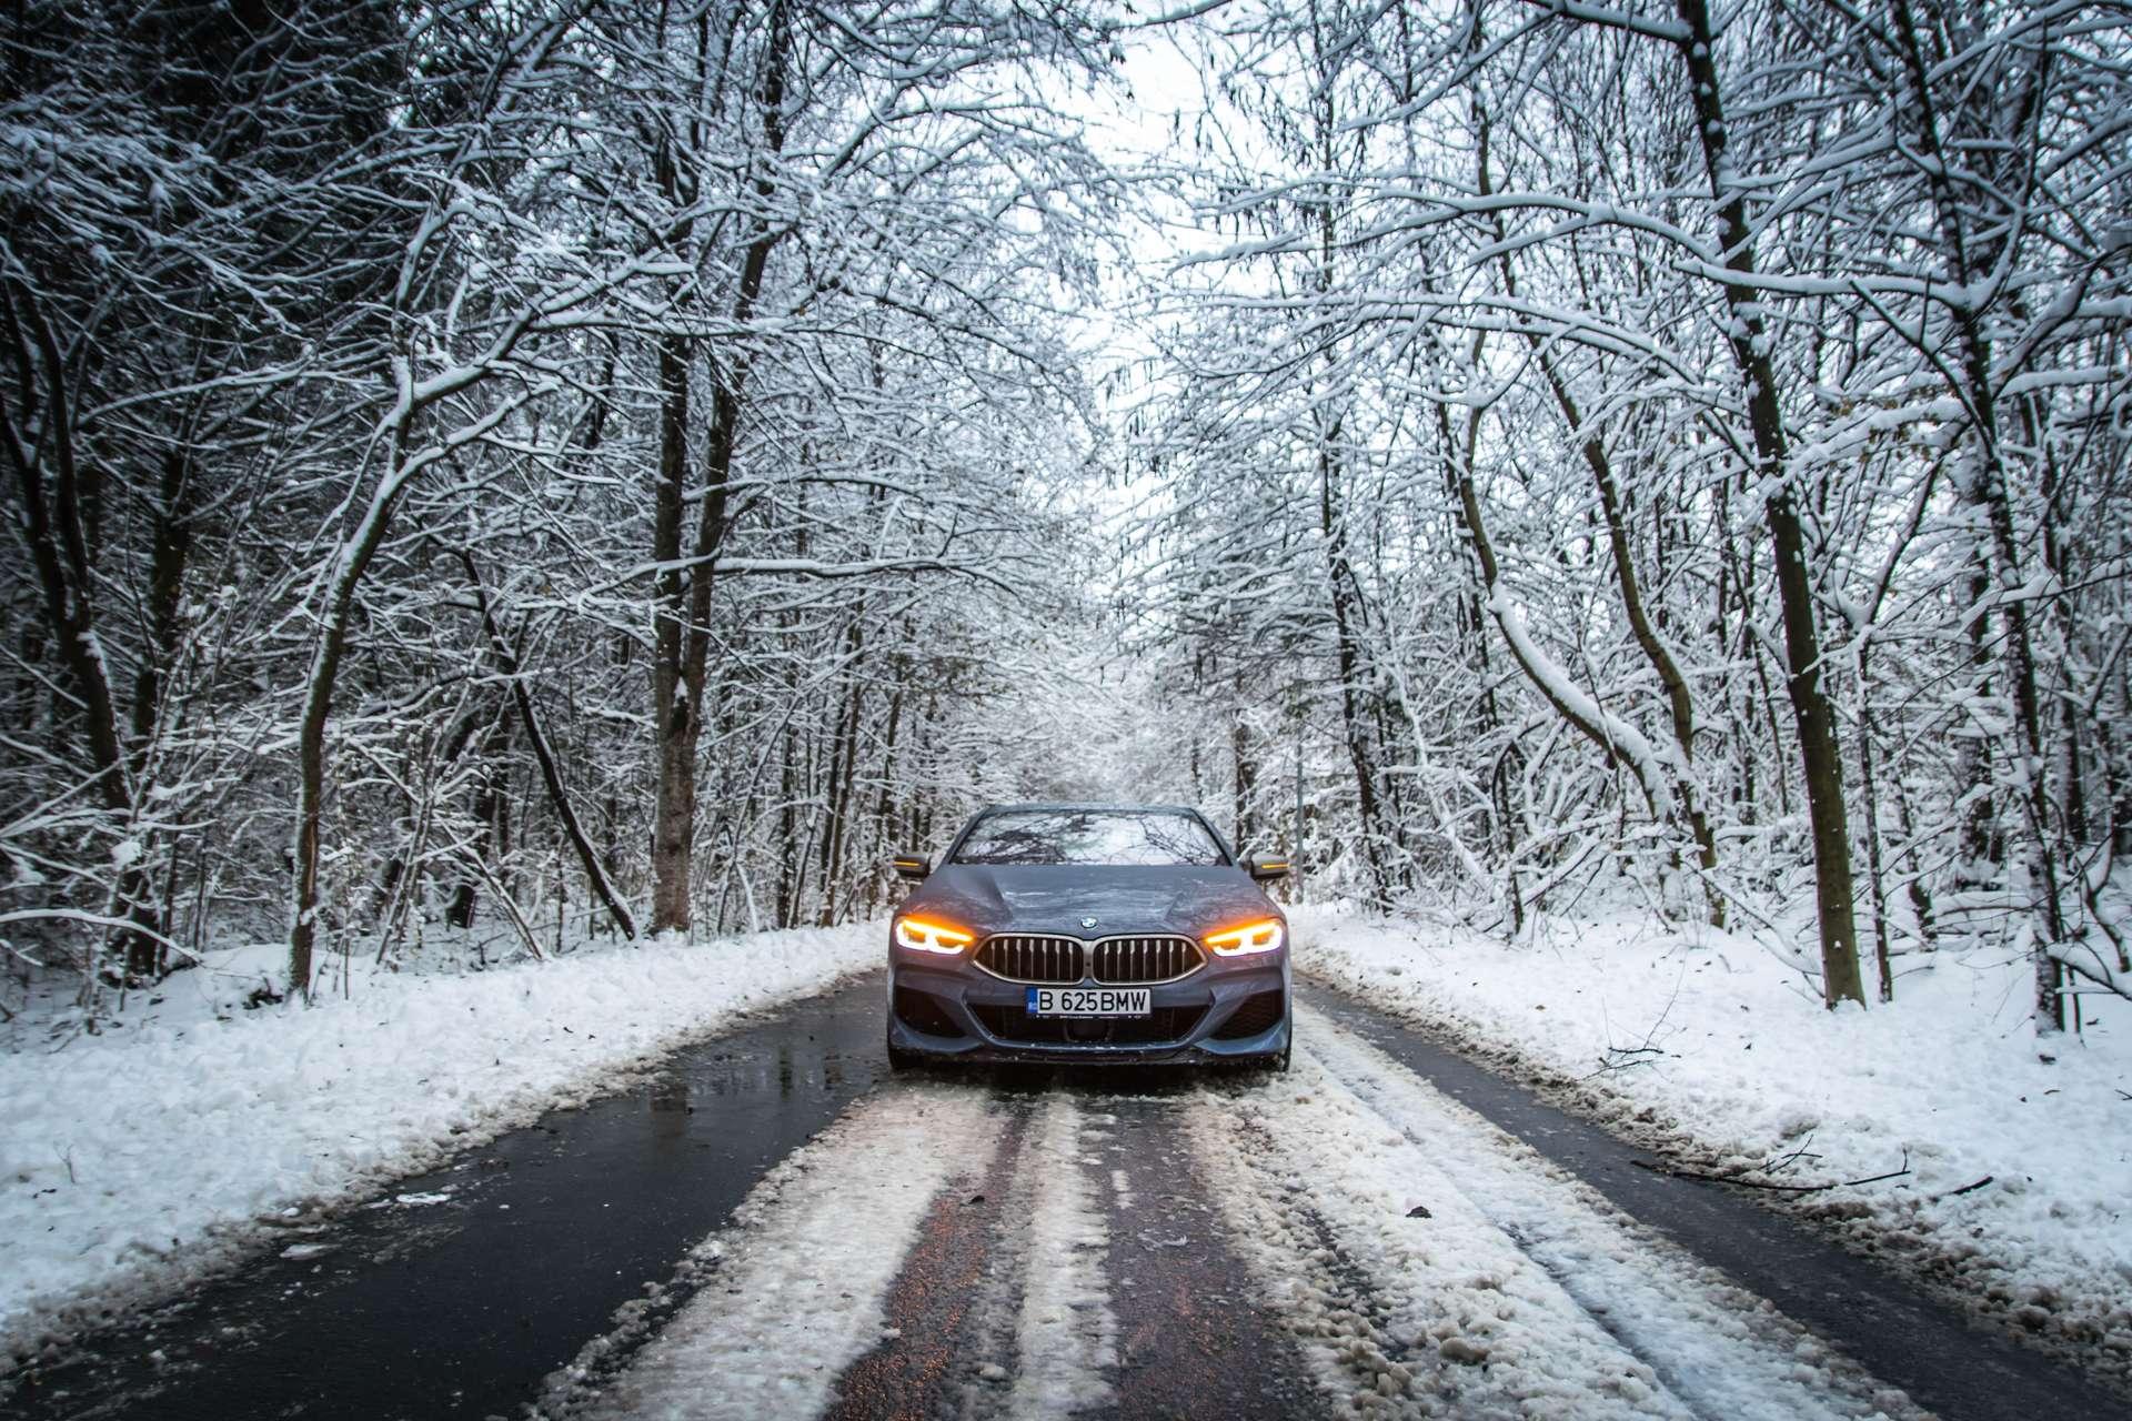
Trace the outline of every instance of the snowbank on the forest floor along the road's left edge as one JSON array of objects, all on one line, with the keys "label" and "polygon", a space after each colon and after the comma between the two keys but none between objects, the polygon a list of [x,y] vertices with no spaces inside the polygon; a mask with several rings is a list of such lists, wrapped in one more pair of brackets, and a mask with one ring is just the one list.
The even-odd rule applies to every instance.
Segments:
[{"label": "snowbank on the forest floor along the road's left edge", "polygon": [[313,1008],[235,1010],[266,959],[230,950],[104,1035],[55,1044],[17,1020],[0,1050],[0,1357],[878,957],[878,925],[797,929],[356,974]]}]

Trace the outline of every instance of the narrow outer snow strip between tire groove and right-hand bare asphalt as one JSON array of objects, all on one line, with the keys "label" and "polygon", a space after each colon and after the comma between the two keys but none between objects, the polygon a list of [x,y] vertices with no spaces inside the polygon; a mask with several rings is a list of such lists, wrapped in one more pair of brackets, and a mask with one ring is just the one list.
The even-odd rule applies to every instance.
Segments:
[{"label": "narrow outer snow strip between tire groove and right-hand bare asphalt", "polygon": [[1307,1008],[1298,1025],[1328,1084],[1426,1150],[1463,1199],[1693,1412],[1725,1421],[1927,1415],[1356,1033]]}]

